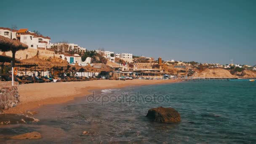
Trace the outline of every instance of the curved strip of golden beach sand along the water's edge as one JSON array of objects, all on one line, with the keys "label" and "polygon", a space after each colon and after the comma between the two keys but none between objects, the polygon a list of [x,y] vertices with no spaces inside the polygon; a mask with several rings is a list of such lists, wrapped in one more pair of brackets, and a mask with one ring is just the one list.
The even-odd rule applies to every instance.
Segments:
[{"label": "curved strip of golden beach sand along the water's edge", "polygon": [[21,104],[5,113],[26,113],[46,104],[59,104],[85,96],[96,89],[123,88],[136,85],[174,83],[178,80],[92,80],[65,83],[31,83],[19,85]]}]

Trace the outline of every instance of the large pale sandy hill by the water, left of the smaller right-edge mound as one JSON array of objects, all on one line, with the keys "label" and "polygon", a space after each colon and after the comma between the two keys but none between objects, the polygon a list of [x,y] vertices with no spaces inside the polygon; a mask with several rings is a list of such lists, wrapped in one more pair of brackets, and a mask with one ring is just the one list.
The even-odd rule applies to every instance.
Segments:
[{"label": "large pale sandy hill by the water, left of the smaller right-edge mound", "polygon": [[196,69],[193,77],[209,77],[209,78],[234,78],[237,77],[235,75],[231,75],[231,73],[226,69],[214,68],[214,69]]}]

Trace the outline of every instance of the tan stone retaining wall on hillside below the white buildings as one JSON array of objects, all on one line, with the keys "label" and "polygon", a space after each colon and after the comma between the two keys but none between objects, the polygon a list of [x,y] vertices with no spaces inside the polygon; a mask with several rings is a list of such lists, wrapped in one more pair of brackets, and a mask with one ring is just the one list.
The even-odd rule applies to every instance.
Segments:
[{"label": "tan stone retaining wall on hillside below the white buildings", "polygon": [[[26,59],[26,57],[27,57],[27,59],[29,59],[37,54],[37,50],[39,51],[40,59],[48,59],[49,57],[54,56],[54,51],[28,48],[24,51],[17,51],[15,54],[15,57],[16,57],[16,59]],[[0,55],[2,55],[2,54],[3,54],[3,52],[0,52]],[[6,56],[12,57],[11,51],[5,52],[5,54],[6,54]],[[55,56],[58,56],[58,55],[56,54]]]}]

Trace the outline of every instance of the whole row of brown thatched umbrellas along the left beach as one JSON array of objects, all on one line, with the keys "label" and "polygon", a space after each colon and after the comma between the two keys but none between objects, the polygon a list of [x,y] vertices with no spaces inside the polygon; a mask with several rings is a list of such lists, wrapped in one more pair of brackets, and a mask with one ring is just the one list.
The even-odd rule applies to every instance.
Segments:
[{"label": "whole row of brown thatched umbrellas along the left beach", "polygon": [[[0,62],[2,62],[2,67],[3,65],[10,65],[10,62],[12,61],[12,67],[15,67],[15,63],[17,62],[16,66],[18,66],[20,69],[19,70],[25,70],[27,71],[27,68],[32,68],[34,69],[34,71],[44,71],[46,69],[49,70],[60,70],[60,69],[64,69],[64,72],[66,72],[66,68],[70,69],[72,71],[78,71],[78,72],[99,72],[100,70],[91,67],[90,65],[86,66],[86,67],[82,67],[79,66],[78,64],[74,65],[70,65],[67,63],[67,61],[64,61],[62,59],[59,59],[57,57],[53,57],[51,59],[48,60],[44,60],[44,59],[40,59],[38,57],[38,51],[37,51],[37,55],[30,58],[30,59],[23,59],[23,60],[19,60],[19,59],[15,59],[15,53],[16,51],[19,50],[25,50],[27,49],[28,46],[20,43],[18,40],[11,40],[7,37],[3,37],[0,36],[0,51],[4,52],[2,55],[0,55]],[[6,56],[5,52],[7,51],[12,51],[12,57],[10,56]]]}]

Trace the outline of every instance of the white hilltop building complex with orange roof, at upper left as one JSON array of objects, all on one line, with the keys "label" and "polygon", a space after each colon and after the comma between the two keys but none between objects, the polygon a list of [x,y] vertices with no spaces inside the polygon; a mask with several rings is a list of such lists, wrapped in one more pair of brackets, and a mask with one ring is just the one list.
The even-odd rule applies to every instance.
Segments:
[{"label": "white hilltop building complex with orange roof, at upper left", "polygon": [[11,30],[9,28],[0,27],[0,35],[8,37],[12,40],[19,40],[21,43],[28,45],[32,49],[50,48],[51,37],[37,35],[28,29]]}]

